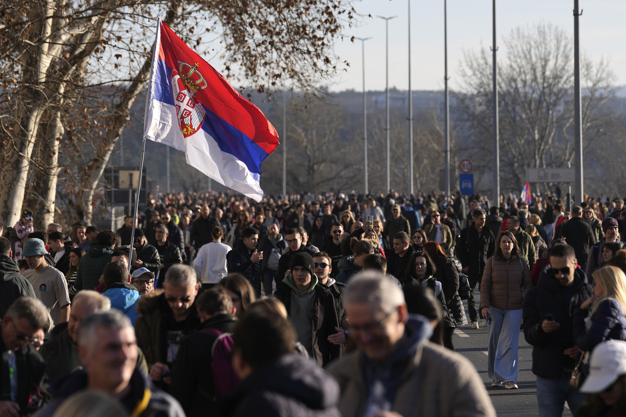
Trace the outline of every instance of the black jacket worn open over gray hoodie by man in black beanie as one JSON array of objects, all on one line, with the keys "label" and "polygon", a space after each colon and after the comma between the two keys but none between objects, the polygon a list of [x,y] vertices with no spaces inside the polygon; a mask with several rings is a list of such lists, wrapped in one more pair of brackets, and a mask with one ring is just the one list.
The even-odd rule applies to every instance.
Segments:
[{"label": "black jacket worn open over gray hoodie by man in black beanie", "polygon": [[[310,346],[303,340],[299,342],[304,344],[319,366],[324,366],[332,359],[341,357],[341,346],[328,341],[328,336],[337,333],[335,327],[341,327],[341,317],[337,314],[335,298],[331,292],[317,283],[317,276],[313,275],[309,290],[301,292],[295,286],[293,275],[287,275],[274,292],[274,297],[284,304],[299,335],[302,327],[310,328],[310,338],[308,335],[304,336],[310,340]],[[302,314],[305,316],[301,316]],[[298,319],[302,317],[309,317],[310,324],[300,324]]]}]

